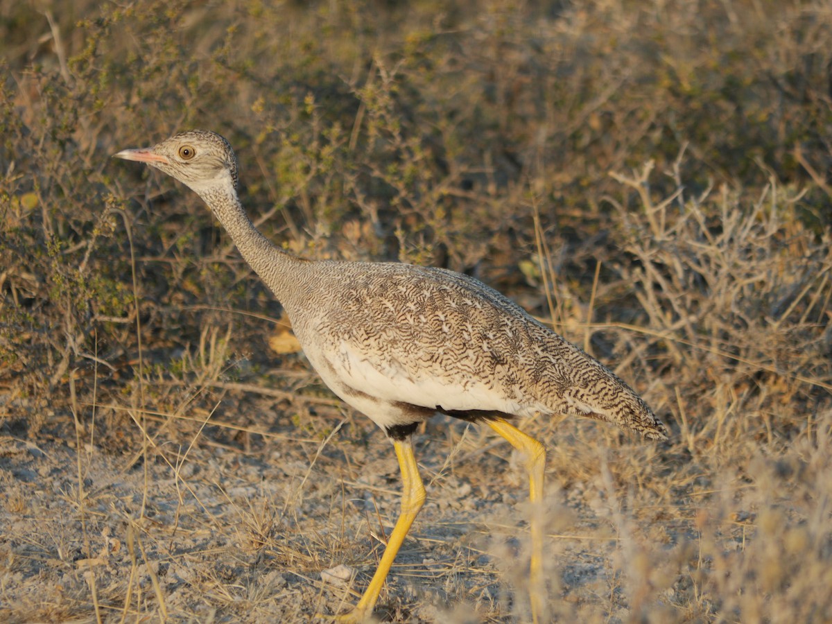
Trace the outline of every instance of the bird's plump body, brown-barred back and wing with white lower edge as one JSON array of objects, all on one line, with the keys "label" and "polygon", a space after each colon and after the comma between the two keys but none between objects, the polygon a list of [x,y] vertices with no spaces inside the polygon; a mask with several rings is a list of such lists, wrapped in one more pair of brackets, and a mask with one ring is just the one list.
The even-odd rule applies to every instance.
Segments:
[{"label": "bird's plump body, brown-barred back and wing with white lower edge", "polygon": [[[309,299],[285,302],[295,333],[330,388],[380,426],[410,418],[404,405],[588,416],[666,436],[615,374],[478,280],[398,263],[313,265]],[[374,416],[379,404],[389,422]]]}]

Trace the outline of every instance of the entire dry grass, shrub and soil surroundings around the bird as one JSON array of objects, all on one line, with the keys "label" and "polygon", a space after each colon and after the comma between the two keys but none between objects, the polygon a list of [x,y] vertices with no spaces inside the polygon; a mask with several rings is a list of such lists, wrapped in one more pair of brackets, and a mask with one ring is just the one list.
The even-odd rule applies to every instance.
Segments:
[{"label": "entire dry grass, shrub and soil surroundings around the bird", "polygon": [[[0,0],[0,619],[307,622],[383,549],[389,444],[260,346],[198,198],[109,158],[201,127],[273,240],[476,275],[670,425],[522,423],[552,619],[832,620],[827,2],[215,5]],[[506,445],[416,449],[379,617],[526,621]]]}]

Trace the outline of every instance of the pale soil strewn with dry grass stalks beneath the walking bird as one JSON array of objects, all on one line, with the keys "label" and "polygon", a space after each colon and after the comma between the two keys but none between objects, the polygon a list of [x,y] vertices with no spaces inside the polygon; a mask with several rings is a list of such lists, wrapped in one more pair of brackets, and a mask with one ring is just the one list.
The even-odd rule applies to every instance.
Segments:
[{"label": "pale soil strewn with dry grass stalks beneath the walking bird", "polygon": [[[157,446],[146,464],[141,443],[104,450],[87,409],[81,496],[74,438],[3,438],[0,617],[307,622],[343,612],[366,587],[382,552],[378,537],[395,522],[399,469],[384,435],[336,405],[327,398],[310,410],[226,394],[212,422],[245,420],[265,436],[231,431],[229,438],[223,427],[200,433],[199,422],[160,427],[164,419],[157,419],[149,424]],[[98,410],[99,422],[106,413]],[[664,494],[618,483],[633,462],[646,477],[655,473],[662,445],[602,423],[525,428],[550,447],[550,615],[629,620],[631,601],[640,600],[622,587],[631,577],[622,572],[629,557],[643,551],[661,561],[690,530],[692,514],[681,499],[669,510]],[[428,501],[399,552],[378,617],[527,620],[526,482],[508,444],[487,429],[437,417],[418,433]],[[661,483],[656,474],[648,480]],[[351,584],[321,580],[339,564],[354,571]],[[675,574],[661,579],[651,611],[684,619],[685,609],[672,605],[686,585]]]}]

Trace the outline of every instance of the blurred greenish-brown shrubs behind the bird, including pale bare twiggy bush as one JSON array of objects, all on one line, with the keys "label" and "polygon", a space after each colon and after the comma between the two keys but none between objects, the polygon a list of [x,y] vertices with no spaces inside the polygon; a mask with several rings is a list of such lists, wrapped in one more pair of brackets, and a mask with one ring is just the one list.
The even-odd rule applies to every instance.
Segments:
[{"label": "blurred greenish-brown shrubs behind the bird, including pale bare twiggy bush", "polygon": [[110,157],[200,128],[286,249],[475,275],[617,365],[667,466],[825,448],[828,2],[0,0],[0,41],[8,435],[296,361],[255,348],[280,305],[201,201]]}]

